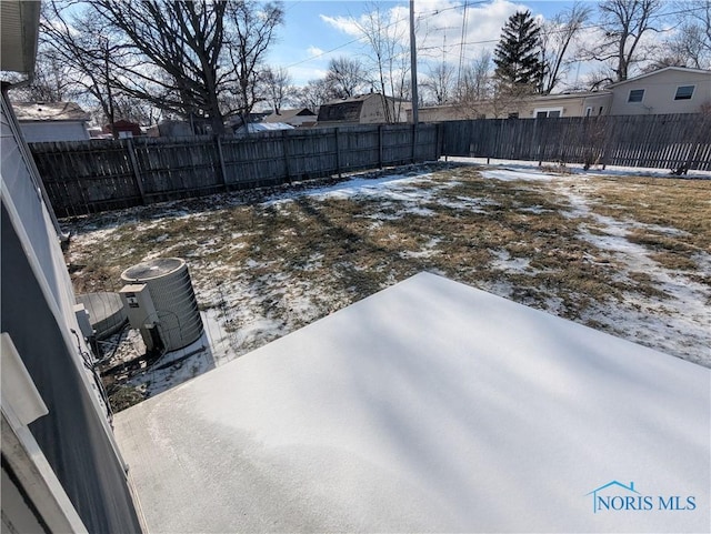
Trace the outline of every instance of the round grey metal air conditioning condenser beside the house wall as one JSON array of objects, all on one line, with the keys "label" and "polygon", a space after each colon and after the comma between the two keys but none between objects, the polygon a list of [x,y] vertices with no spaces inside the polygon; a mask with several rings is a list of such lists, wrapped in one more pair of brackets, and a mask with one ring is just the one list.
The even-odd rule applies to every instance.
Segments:
[{"label": "round grey metal air conditioning condenser beside the house wall", "polygon": [[131,328],[141,332],[149,352],[188,346],[203,332],[188,265],[162,258],[133,265],[121,274],[121,291]]}]

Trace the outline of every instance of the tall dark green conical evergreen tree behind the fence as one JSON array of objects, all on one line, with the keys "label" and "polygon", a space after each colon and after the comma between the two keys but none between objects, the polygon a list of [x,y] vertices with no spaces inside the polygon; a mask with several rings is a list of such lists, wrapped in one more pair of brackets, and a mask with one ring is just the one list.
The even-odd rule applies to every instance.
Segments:
[{"label": "tall dark green conical evergreen tree behind the fence", "polygon": [[530,11],[517,11],[509,17],[493,54],[500,89],[541,92],[544,64],[539,59],[540,28]]}]

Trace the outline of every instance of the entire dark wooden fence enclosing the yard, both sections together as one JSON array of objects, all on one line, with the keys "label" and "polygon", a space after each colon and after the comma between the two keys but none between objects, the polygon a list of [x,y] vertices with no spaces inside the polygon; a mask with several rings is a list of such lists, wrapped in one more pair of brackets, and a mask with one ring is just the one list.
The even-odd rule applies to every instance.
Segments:
[{"label": "entire dark wooden fence enclosing the yard, both sections together", "polygon": [[464,155],[711,171],[711,117],[372,124],[248,137],[31,143],[59,216]]}]

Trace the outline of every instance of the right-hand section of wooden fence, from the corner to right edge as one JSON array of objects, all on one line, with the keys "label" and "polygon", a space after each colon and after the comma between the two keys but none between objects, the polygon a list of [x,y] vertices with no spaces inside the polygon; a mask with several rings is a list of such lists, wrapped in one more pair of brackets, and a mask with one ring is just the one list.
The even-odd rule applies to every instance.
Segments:
[{"label": "right-hand section of wooden fence, from the corner to right edge", "polygon": [[711,117],[603,115],[444,122],[443,155],[711,171]]}]

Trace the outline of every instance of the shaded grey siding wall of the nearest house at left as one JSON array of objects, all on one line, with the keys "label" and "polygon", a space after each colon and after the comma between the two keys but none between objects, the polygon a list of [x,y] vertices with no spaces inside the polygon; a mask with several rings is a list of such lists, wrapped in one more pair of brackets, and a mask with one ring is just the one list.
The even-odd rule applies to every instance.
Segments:
[{"label": "shaded grey siding wall of the nearest house at left", "polygon": [[0,326],[49,409],[29,430],[89,532],[140,532],[106,405],[84,367],[89,349],[73,334],[76,300],[51,208],[4,93],[0,127]]}]

